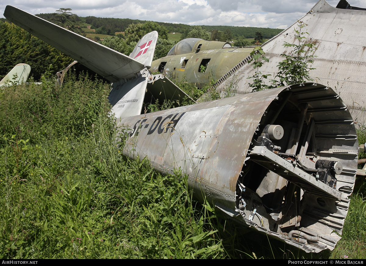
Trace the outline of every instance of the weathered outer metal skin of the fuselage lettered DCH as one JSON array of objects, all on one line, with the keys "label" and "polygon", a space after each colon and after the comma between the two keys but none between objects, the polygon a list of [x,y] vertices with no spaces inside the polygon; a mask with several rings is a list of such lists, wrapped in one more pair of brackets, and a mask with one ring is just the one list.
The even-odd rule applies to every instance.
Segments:
[{"label": "weathered outer metal skin of the fuselage lettered DCH", "polygon": [[[265,109],[281,90],[147,113],[138,136],[128,139],[123,152],[126,156],[139,154],[161,165],[180,167],[197,180],[198,183],[190,182],[191,187],[199,191],[201,184],[210,186],[210,194],[217,202],[235,209],[236,181],[251,138]],[[167,130],[164,130],[164,124],[171,121],[177,123],[166,124]],[[120,125],[131,128],[138,123],[141,123],[140,116],[120,121]],[[213,153],[209,160],[194,158],[192,153],[194,141],[203,134],[202,131],[206,135],[220,135],[222,143],[212,146],[216,152],[207,148]]]}]

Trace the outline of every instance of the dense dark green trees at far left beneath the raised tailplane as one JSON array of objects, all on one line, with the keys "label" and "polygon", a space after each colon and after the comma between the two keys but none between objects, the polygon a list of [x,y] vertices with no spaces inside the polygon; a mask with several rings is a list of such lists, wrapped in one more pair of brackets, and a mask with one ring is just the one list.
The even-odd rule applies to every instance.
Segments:
[{"label": "dense dark green trees at far left beneath the raised tailplane", "polygon": [[0,21],[0,79],[19,63],[29,64],[34,80],[56,74],[73,60],[14,24]]}]

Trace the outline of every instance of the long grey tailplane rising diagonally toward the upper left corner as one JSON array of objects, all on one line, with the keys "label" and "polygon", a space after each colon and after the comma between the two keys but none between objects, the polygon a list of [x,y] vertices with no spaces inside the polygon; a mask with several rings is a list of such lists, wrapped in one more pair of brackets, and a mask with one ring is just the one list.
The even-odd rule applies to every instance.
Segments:
[{"label": "long grey tailplane rising diagonally toward the upper left corner", "polygon": [[16,7],[7,5],[4,16],[111,82],[135,77],[135,73],[145,68],[137,61],[139,57],[123,55]]}]

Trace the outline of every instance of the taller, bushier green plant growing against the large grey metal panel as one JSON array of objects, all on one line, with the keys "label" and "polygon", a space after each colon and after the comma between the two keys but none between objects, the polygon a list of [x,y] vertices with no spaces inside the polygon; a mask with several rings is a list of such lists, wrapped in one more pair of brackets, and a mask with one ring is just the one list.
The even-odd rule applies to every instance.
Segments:
[{"label": "taller, bushier green plant growing against the large grey metal panel", "polygon": [[285,42],[283,46],[285,48],[293,47],[290,55],[282,54],[285,60],[281,61],[277,67],[279,72],[273,79],[272,85],[276,87],[286,86],[291,84],[303,83],[305,81],[313,81],[310,77],[310,70],[314,70],[314,67],[310,67],[314,63],[314,55],[317,50],[315,42],[309,42],[306,38],[306,34],[309,33],[304,29],[307,26],[302,21],[298,20],[297,29],[295,28],[297,44],[290,44]]}]

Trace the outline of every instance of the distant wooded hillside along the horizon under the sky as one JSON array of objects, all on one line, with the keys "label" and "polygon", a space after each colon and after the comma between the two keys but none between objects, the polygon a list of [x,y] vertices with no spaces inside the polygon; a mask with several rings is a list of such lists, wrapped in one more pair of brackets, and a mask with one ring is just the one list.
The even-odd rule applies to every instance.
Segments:
[{"label": "distant wooded hillside along the horizon under the sky", "polygon": [[[37,14],[40,18],[49,20],[52,18],[53,14]],[[87,17],[78,17],[81,22],[92,25],[93,29],[98,29],[101,27],[105,27],[108,32],[114,33],[116,31],[125,31],[128,25],[134,23],[145,23],[146,20],[139,19],[128,19],[128,18],[97,18],[95,16],[87,16]],[[157,22],[159,25],[167,28],[168,32],[176,32],[176,33],[184,33],[188,28],[192,28],[194,26],[186,25],[186,24],[176,24],[176,23],[167,23],[167,22]],[[272,38],[279,34],[283,29],[270,29],[270,28],[257,28],[257,27],[239,27],[239,26],[208,26],[201,25],[203,29],[208,31],[219,30],[225,31],[226,29],[231,30],[234,38],[243,36],[244,38],[255,38],[255,32],[261,31],[263,37],[265,39]]]}]

